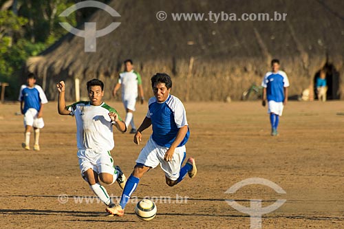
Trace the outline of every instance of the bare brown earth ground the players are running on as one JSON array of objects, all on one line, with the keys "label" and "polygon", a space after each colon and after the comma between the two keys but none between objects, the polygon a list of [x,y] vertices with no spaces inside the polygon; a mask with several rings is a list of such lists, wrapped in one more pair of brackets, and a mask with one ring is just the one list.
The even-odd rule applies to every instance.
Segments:
[{"label": "bare brown earth ground the players are running on", "polygon": [[[125,116],[122,104],[109,105]],[[45,107],[39,152],[21,149],[23,116],[14,115],[19,104],[0,105],[1,228],[250,228],[250,217],[225,199],[243,206],[250,199],[263,199],[263,206],[287,199],[263,216],[262,228],[344,228],[344,116],[338,115],[344,102],[290,102],[276,138],[270,136],[268,115],[259,102],[185,107],[191,128],[187,154],[196,159],[197,177],[170,188],[160,168],[145,175],[134,196],[171,199],[169,204],[168,199],[156,200],[158,215],[144,222],[133,213],[134,201],[125,217],[105,217],[105,205],[92,199],[92,190],[80,177],[74,118],[58,116],[56,102]],[[140,124],[147,105],[137,108]],[[144,143],[149,133],[144,132]],[[115,131],[112,155],[127,175],[141,148],[132,138]],[[269,179],[286,194],[261,185],[225,193],[250,177]],[[121,193],[117,184],[105,187],[114,197]],[[77,197],[85,199],[80,203]]]}]

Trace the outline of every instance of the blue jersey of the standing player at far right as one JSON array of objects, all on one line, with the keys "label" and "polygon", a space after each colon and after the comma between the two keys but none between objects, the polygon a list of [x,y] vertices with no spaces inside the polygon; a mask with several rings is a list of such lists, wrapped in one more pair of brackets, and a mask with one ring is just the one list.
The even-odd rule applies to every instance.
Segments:
[{"label": "blue jersey of the standing player at far right", "polygon": [[289,87],[289,80],[286,72],[268,72],[261,83],[266,88],[266,98],[268,101],[283,102],[284,87]]}]

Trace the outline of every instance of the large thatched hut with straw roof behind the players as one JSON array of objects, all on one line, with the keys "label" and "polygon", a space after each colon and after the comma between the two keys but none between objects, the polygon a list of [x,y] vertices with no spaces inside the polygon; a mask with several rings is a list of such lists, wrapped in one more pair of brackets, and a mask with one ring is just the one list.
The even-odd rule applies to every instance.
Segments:
[{"label": "large thatched hut with straw roof behind the players", "polygon": [[[122,61],[132,58],[151,94],[149,79],[156,72],[173,77],[173,94],[190,100],[238,99],[252,83],[260,84],[270,69],[271,58],[279,58],[291,82],[290,94],[300,94],[312,85],[319,69],[327,65],[330,98],[344,95],[344,1],[254,1],[254,0],[116,0],[109,1],[121,17],[97,10],[88,21],[105,28],[112,21],[120,26],[96,39],[96,52],[84,51],[84,39],[68,34],[30,58],[28,71],[35,72],[48,98],[56,99],[54,84],[65,80],[74,99],[74,79],[104,80],[107,94],[122,70]],[[168,14],[165,21],[156,12]],[[286,21],[173,21],[171,13],[208,12],[287,13]],[[225,17],[224,17],[225,19]],[[83,28],[82,26],[80,28]],[[189,63],[194,57],[191,74]],[[188,92],[189,89],[189,92]]]}]

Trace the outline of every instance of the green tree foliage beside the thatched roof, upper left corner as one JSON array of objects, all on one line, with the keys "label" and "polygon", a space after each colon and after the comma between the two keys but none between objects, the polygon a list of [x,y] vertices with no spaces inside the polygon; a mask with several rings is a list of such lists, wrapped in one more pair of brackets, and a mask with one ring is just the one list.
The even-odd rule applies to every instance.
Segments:
[{"label": "green tree foliage beside the thatched roof, upper left corner", "polygon": [[10,83],[6,99],[15,100],[22,82],[21,69],[30,56],[36,56],[67,33],[58,24],[76,26],[76,13],[58,17],[72,6],[70,0],[0,0],[0,82]]}]

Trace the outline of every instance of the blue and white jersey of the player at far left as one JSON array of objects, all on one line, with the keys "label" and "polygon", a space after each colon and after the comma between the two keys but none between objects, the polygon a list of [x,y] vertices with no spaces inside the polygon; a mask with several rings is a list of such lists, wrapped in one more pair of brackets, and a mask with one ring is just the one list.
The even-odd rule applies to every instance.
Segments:
[{"label": "blue and white jersey of the player at far left", "polygon": [[47,97],[39,85],[34,85],[32,88],[27,85],[22,85],[19,93],[19,101],[24,102],[23,112],[26,113],[30,108],[39,111],[41,104],[47,103]]}]

